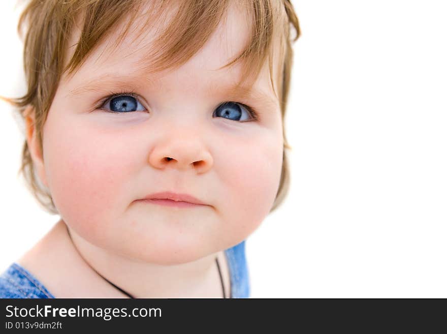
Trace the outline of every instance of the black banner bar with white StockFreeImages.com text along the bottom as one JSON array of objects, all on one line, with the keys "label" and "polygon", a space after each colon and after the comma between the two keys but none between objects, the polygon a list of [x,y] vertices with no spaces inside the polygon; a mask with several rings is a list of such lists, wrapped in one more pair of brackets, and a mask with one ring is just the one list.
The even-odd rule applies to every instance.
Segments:
[{"label": "black banner bar with white StockFreeImages.com text along the bottom", "polygon": [[266,324],[273,325],[274,332],[400,331],[407,325],[438,332],[445,330],[445,309],[444,299],[0,299],[0,332],[160,329],[169,333],[179,327],[239,332],[235,329],[240,326]]}]

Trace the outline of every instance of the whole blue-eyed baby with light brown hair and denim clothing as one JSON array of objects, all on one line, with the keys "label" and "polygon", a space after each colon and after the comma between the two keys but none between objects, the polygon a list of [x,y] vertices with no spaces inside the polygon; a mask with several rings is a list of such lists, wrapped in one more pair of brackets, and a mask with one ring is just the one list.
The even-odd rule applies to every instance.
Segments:
[{"label": "whole blue-eyed baby with light brown hair and denim clothing", "polygon": [[23,28],[3,100],[60,220],[0,297],[249,297],[245,239],[289,185],[290,1],[30,0]]}]

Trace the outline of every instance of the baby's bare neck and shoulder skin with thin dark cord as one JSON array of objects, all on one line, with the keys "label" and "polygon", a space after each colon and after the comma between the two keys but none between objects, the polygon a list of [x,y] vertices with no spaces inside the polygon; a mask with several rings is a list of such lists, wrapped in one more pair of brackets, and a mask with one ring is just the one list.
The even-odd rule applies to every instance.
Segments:
[{"label": "baby's bare neck and shoulder skin with thin dark cord", "polygon": [[70,232],[73,241],[60,220],[17,261],[56,298],[127,297],[107,280],[136,298],[221,298],[216,257],[229,296],[230,277],[223,252],[185,264],[150,264],[106,252]]}]

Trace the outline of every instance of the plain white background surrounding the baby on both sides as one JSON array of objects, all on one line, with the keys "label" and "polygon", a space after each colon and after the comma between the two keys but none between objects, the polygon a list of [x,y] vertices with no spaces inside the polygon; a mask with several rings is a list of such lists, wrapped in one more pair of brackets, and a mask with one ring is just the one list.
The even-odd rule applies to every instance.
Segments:
[{"label": "plain white background surrounding the baby on both sides", "polygon": [[[447,5],[295,0],[292,186],[247,240],[252,297],[447,297]],[[0,95],[25,93],[15,1],[1,1]],[[20,9],[20,7],[19,7]],[[0,104],[0,269],[57,222],[17,177]]]}]

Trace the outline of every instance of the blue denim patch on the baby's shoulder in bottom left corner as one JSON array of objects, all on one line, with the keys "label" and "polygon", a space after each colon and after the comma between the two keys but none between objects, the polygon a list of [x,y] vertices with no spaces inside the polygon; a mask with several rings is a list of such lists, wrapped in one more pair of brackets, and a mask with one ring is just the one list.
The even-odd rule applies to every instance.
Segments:
[{"label": "blue denim patch on the baby's shoulder in bottom left corner", "polygon": [[54,298],[33,275],[12,263],[0,275],[0,298]]}]

